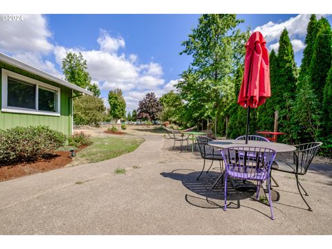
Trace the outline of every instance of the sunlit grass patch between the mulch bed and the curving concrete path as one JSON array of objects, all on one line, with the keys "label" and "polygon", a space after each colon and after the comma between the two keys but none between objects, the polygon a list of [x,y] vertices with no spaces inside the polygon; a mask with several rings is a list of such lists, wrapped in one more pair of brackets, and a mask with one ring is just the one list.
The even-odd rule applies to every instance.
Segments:
[{"label": "sunlit grass patch between the mulch bed and the curving concrete path", "polygon": [[77,151],[73,165],[98,163],[134,151],[144,141],[142,138],[94,137],[93,144]]}]

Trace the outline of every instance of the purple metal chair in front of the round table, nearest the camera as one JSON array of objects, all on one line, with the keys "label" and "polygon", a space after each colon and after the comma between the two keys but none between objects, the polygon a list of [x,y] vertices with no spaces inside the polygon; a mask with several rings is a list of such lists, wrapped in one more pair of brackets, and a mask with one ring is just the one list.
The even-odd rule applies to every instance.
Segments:
[{"label": "purple metal chair in front of the round table, nearest the camera", "polygon": [[[256,156],[250,156],[255,154]],[[270,170],[277,152],[273,149],[261,147],[230,147],[222,149],[221,155],[225,163],[225,208],[227,210],[227,178],[239,178],[241,180],[257,181],[256,199],[259,199],[259,190],[264,181],[268,182],[268,201],[270,203],[271,219],[273,215],[273,206],[270,190]]]}]

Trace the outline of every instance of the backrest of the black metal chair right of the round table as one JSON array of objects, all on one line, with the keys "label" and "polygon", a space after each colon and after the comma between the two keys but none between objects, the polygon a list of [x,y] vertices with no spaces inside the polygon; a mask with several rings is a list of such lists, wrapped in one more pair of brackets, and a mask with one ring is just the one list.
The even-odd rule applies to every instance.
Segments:
[{"label": "backrest of the black metal chair right of the round table", "polygon": [[294,164],[299,167],[299,174],[306,174],[322,144],[322,142],[308,142],[302,145],[294,145],[296,147],[296,151],[294,151]]}]

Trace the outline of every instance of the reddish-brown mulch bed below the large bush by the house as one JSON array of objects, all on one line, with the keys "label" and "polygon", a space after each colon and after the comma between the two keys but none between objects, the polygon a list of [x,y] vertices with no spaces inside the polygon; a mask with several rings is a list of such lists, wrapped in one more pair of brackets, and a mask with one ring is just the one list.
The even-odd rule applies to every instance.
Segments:
[{"label": "reddish-brown mulch bed below the large bush by the house", "polygon": [[71,163],[71,152],[57,151],[50,158],[42,158],[31,163],[20,163],[16,165],[0,165],[0,181],[7,181],[12,178],[28,176],[40,172],[48,172],[52,169],[58,169]]}]

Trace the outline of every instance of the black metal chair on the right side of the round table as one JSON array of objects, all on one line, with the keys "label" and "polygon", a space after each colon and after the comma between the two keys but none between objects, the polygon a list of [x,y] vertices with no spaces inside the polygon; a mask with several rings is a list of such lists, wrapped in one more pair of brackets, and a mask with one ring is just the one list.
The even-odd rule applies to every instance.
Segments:
[{"label": "black metal chair on the right side of the round table", "polygon": [[312,209],[304,199],[304,196],[299,187],[302,188],[306,196],[308,196],[308,193],[306,190],[304,190],[304,187],[301,185],[301,183],[299,183],[299,175],[306,174],[306,171],[310,167],[313,158],[317,154],[317,151],[320,149],[322,144],[322,142],[308,142],[302,145],[294,145],[296,147],[296,151],[293,153],[293,164],[275,161],[273,162],[270,172],[270,174],[272,174],[273,169],[280,172],[295,174],[297,189],[299,190],[299,194],[301,195],[303,201],[308,206],[309,211],[312,211]]}]

